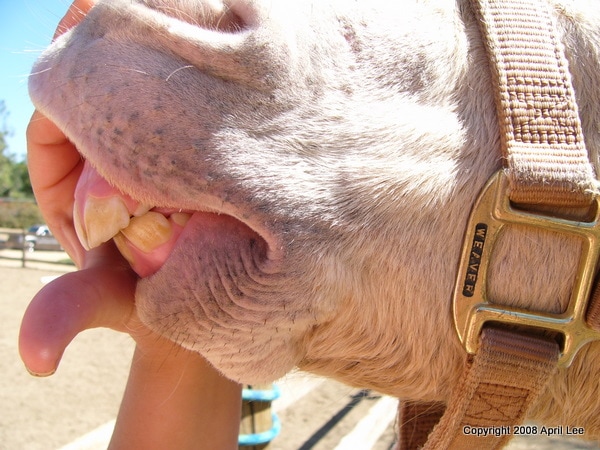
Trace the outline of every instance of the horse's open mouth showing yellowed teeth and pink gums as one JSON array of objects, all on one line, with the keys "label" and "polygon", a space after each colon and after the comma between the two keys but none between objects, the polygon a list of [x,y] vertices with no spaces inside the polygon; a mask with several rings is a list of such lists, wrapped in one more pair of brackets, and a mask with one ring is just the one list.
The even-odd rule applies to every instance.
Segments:
[{"label": "horse's open mouth showing yellowed teeth and pink gums", "polygon": [[[239,237],[265,241],[252,227],[223,211],[192,211],[135,200],[110,185],[88,161],[75,190],[73,217],[75,230],[86,250],[113,240],[141,278],[160,270],[180,237],[187,232],[198,232],[199,228],[218,230],[222,226],[235,230]],[[194,226],[188,227],[190,223]],[[231,237],[213,232],[210,244],[217,246],[221,239]]]}]

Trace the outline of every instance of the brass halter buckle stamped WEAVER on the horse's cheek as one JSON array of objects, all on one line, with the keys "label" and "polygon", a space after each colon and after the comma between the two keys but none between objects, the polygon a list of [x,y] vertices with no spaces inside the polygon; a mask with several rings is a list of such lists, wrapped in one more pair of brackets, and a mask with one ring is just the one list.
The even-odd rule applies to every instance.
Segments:
[{"label": "brass halter buckle stamped WEAVER on the horse's cheek", "polygon": [[[454,289],[454,324],[469,354],[477,353],[484,324],[549,330],[561,343],[559,367],[568,367],[581,347],[600,340],[600,332],[590,328],[585,314],[600,256],[600,204],[595,202],[592,222],[577,222],[514,209],[508,197],[508,179],[497,172],[480,194],[473,210],[463,244]],[[487,271],[491,254],[504,225],[544,228],[581,238],[582,253],[569,305],[564,313],[552,314],[498,305],[488,300]]]}]

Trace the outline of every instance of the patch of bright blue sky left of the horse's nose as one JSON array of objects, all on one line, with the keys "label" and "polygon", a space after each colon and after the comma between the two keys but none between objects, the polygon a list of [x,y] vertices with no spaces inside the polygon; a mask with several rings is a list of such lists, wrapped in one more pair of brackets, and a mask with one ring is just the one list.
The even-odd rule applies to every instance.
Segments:
[{"label": "patch of bright blue sky left of the horse's nose", "polygon": [[27,75],[70,5],[69,0],[0,0],[0,100],[9,112],[8,152],[25,158],[25,129],[33,106]]}]

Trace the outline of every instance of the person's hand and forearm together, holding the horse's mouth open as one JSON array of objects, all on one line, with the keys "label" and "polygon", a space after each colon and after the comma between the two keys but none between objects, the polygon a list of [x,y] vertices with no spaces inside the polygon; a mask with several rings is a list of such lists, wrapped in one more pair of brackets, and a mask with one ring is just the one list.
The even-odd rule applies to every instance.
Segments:
[{"label": "person's hand and forearm together, holding the horse's mouth open", "polygon": [[[93,0],[75,0],[57,35],[77,25]],[[27,131],[32,186],[46,223],[73,258],[77,272],[46,285],[21,325],[19,350],[27,369],[47,376],[81,331],[108,327],[130,334],[136,353],[111,448],[237,448],[240,386],[199,355],[145,327],[135,309],[137,275],[115,246],[86,251],[75,232],[75,188],[84,160],[52,123],[35,112]]]}]

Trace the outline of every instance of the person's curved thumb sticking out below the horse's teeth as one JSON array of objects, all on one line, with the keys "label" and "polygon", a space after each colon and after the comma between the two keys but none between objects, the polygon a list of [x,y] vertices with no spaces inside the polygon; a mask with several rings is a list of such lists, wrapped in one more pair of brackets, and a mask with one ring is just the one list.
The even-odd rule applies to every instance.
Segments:
[{"label": "person's curved thumb sticking out below the horse's teeth", "polygon": [[[121,265],[91,267],[52,281],[33,298],[21,323],[19,352],[30,373],[51,375],[71,340],[88,328],[139,325],[136,277]],[[141,326],[141,325],[139,325]]]}]

